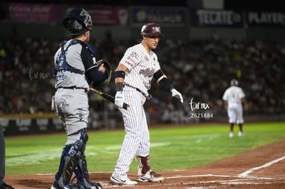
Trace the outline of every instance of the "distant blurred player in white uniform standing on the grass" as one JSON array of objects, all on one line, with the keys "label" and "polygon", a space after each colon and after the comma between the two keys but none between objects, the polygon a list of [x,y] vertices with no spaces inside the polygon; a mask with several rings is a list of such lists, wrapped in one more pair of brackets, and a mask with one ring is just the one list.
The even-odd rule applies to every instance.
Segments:
[{"label": "distant blurred player in white uniform standing on the grass", "polygon": [[231,80],[231,87],[224,91],[224,95],[222,96],[222,100],[224,100],[224,107],[227,109],[230,130],[229,137],[233,137],[233,126],[234,124],[238,124],[240,127],[240,131],[238,135],[241,137],[244,135],[242,132],[242,124],[244,123],[243,115],[242,115],[242,103],[246,104],[244,91],[242,88],[237,87],[237,80]]}]

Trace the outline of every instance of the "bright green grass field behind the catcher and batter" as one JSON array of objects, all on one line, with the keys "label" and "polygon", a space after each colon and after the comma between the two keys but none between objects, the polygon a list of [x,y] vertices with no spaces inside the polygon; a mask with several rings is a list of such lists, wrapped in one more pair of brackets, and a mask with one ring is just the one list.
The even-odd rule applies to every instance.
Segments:
[{"label": "bright green grass field behind the catcher and batter", "polygon": [[[228,124],[151,128],[151,168],[180,170],[278,142],[285,137],[285,122],[246,123],[244,137],[229,138]],[[5,134],[5,133],[4,133]],[[112,172],[125,132],[89,131],[85,151],[89,172]],[[66,135],[6,137],[6,175],[56,173]],[[132,162],[130,171],[137,170]]]}]

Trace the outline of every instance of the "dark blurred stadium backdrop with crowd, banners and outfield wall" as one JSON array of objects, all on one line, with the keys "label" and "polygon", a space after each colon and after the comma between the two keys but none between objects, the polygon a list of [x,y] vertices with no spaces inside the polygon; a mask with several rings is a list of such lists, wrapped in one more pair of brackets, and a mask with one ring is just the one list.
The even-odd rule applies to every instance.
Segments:
[{"label": "dark blurred stadium backdrop with crowd, banners and outfield wall", "polygon": [[[154,51],[184,97],[154,82],[145,104],[149,125],[227,122],[222,94],[232,78],[246,93],[245,122],[285,120],[285,9],[280,1],[7,1],[0,3],[0,124],[6,135],[62,131],[51,110],[53,56],[67,39],[66,12],[92,15],[97,59],[114,69],[140,28],[155,22],[165,37]],[[114,95],[114,80],[103,91]],[[193,111],[189,102],[208,104]],[[123,128],[114,104],[89,92],[89,128]],[[210,118],[190,118],[209,113]]]}]

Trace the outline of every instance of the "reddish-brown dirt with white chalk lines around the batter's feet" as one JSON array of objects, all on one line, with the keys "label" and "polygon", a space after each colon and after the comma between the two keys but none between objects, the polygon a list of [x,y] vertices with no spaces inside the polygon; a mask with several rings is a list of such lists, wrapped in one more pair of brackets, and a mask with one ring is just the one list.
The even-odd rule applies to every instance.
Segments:
[{"label": "reddish-brown dirt with white chalk lines around the batter's feet", "polygon": [[[285,139],[207,166],[160,174],[165,177],[161,183],[127,187],[112,185],[111,173],[89,173],[103,188],[285,188]],[[136,173],[128,175],[137,179]],[[50,188],[54,175],[6,175],[6,181],[17,189]]]}]

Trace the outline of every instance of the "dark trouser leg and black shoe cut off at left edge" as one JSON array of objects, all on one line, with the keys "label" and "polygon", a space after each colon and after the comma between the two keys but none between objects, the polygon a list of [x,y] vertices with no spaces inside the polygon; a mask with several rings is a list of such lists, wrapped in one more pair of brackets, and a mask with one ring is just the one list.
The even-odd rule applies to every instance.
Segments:
[{"label": "dark trouser leg and black shoe cut off at left edge", "polygon": [[0,125],[0,189],[14,189],[9,184],[6,184],[4,181],[5,177],[5,140],[4,140],[4,134],[2,130],[2,126]]}]

